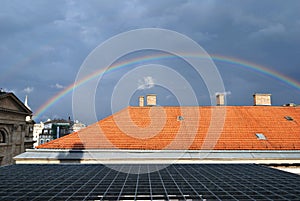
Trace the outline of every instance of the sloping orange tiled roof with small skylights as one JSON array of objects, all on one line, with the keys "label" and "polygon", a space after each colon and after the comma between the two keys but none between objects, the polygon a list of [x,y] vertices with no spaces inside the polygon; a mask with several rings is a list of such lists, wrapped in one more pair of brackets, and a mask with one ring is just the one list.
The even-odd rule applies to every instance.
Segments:
[{"label": "sloping orange tiled roof with small skylights", "polygon": [[128,107],[37,148],[300,150],[298,122],[300,107]]}]

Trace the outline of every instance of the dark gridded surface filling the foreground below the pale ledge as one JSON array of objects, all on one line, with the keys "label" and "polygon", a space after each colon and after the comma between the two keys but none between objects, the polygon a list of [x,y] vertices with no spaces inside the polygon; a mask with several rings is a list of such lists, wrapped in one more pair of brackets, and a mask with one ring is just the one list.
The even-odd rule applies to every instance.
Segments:
[{"label": "dark gridded surface filling the foreground below the pale ledge", "polygon": [[[300,176],[252,164],[11,165],[0,200],[300,200]],[[142,172],[142,171],[140,171]]]}]

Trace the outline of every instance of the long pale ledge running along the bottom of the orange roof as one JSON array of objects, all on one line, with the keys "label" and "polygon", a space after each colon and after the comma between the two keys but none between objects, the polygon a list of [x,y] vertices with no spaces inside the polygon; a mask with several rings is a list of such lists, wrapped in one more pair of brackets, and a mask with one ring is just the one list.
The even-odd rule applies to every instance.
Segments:
[{"label": "long pale ledge running along the bottom of the orange roof", "polygon": [[258,163],[300,164],[300,150],[65,150],[27,149],[21,163]]}]

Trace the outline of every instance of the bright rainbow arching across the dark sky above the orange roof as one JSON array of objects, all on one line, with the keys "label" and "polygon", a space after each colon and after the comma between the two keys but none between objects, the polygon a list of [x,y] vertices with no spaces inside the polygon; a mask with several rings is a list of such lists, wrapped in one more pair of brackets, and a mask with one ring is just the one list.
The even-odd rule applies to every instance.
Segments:
[{"label": "bright rainbow arching across the dark sky above the orange roof", "polygon": [[[186,55],[186,54],[180,54],[185,57],[199,57],[199,55]],[[138,64],[139,62],[142,61],[155,61],[155,60],[160,60],[160,59],[166,59],[166,58],[174,58],[174,55],[166,54],[166,53],[159,53],[159,54],[151,54],[143,57],[138,57],[130,60],[126,60],[123,62],[115,63],[114,65],[110,66],[108,70],[103,70],[100,69],[98,71],[95,71],[94,73],[86,76],[85,78],[79,80],[76,83],[72,83],[71,85],[67,86],[64,88],[64,90],[60,91],[56,95],[54,95],[52,98],[50,98],[47,102],[45,102],[42,106],[38,108],[36,113],[34,114],[34,118],[37,119],[39,118],[45,111],[47,111],[52,105],[57,103],[62,97],[64,97],[66,94],[70,93],[73,89],[76,89],[77,87],[85,84],[86,82],[97,78],[100,75],[107,74],[109,72],[118,70],[120,68],[126,68],[134,64]],[[200,56],[201,57],[201,56]],[[225,63],[230,63],[230,64],[235,64],[238,66],[242,66],[246,69],[252,70],[254,72],[260,73],[267,75],[269,77],[272,77],[276,80],[279,80],[281,82],[284,82],[296,89],[300,89],[300,82],[287,77],[286,75],[280,74],[277,71],[270,70],[267,67],[264,67],[262,65],[258,65],[249,61],[245,61],[242,59],[234,58],[234,57],[228,57],[228,56],[222,56],[222,55],[210,55],[212,60],[214,61],[220,61],[220,62],[225,62]],[[204,57],[203,57],[204,58]]]}]

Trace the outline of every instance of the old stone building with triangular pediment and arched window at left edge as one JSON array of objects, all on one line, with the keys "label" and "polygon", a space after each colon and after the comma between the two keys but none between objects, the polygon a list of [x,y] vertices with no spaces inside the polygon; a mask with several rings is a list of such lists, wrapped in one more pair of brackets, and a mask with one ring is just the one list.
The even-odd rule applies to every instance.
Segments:
[{"label": "old stone building with triangular pediment and arched window at left edge", "polygon": [[13,93],[0,91],[0,165],[33,148],[32,112]]}]

